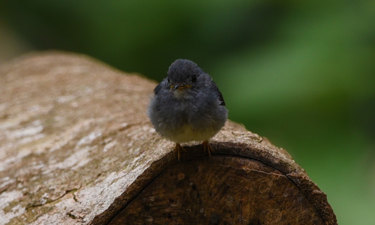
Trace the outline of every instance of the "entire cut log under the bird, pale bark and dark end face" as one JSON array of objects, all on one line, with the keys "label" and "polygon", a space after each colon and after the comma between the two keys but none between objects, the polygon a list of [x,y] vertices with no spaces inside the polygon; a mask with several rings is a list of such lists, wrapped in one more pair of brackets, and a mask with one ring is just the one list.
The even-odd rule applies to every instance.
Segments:
[{"label": "entire cut log under the bird, pale bark and dark end face", "polygon": [[[2,65],[0,224],[115,224],[142,213],[163,224],[231,215],[250,224],[289,217],[336,224],[326,195],[287,151],[239,124],[229,121],[212,139],[212,159],[192,143],[178,164],[174,144],[145,114],[155,85],[63,52]],[[259,204],[236,208],[238,199]],[[187,204],[189,213],[178,217]]]}]

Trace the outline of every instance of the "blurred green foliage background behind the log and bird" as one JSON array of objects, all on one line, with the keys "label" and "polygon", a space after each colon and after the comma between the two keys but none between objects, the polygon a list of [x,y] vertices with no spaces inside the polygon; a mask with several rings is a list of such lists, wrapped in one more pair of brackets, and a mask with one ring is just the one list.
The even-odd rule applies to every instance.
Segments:
[{"label": "blurred green foliage background behind the log and bird", "polygon": [[188,58],[341,225],[375,224],[375,1],[0,1],[0,63],[63,49],[157,81]]}]

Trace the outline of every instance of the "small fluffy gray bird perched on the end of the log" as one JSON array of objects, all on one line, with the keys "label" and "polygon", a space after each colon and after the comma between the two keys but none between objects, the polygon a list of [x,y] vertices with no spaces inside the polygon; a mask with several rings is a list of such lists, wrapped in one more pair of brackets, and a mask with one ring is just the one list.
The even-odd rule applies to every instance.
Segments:
[{"label": "small fluffy gray bird perched on the end of the log", "polygon": [[154,89],[147,114],[159,135],[176,142],[180,161],[180,143],[202,141],[211,157],[208,140],[224,126],[228,118],[223,96],[210,75],[194,62],[177,59],[166,77]]}]

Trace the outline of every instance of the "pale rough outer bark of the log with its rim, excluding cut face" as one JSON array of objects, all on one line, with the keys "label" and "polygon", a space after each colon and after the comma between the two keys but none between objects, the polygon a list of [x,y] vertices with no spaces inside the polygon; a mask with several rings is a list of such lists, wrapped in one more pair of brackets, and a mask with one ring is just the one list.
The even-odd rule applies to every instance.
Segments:
[{"label": "pale rough outer bark of the log with its rim, excluding cut face", "polygon": [[188,173],[184,165],[219,155],[276,169],[336,224],[326,195],[290,154],[240,124],[228,121],[211,140],[212,162],[190,143],[178,164],[174,143],[145,114],[154,81],[49,51],[1,65],[0,84],[0,224],[107,224],[164,171]]}]

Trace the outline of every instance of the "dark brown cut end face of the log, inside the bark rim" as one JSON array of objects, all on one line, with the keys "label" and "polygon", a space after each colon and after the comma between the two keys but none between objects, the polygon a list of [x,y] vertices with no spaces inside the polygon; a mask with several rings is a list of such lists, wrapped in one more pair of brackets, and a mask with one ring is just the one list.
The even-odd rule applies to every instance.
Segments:
[{"label": "dark brown cut end face of the log, inside the bark rim", "polygon": [[120,224],[304,224],[324,221],[284,174],[257,160],[215,155],[164,171],[111,221]]}]

